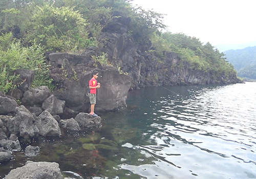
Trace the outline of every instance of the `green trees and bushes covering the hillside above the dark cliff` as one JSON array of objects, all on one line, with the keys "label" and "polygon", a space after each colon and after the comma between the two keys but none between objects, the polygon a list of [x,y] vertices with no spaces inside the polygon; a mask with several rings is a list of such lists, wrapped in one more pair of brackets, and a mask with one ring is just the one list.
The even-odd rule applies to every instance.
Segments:
[{"label": "green trees and bushes covering the hillside above the dark cliff", "polygon": [[[158,62],[164,52],[176,52],[181,58],[177,65],[188,64],[191,70],[213,75],[234,72],[210,43],[202,44],[196,37],[162,32],[163,14],[133,7],[129,0],[2,0],[0,2],[0,67],[1,91],[7,93],[22,81],[15,74],[19,68],[35,71],[32,87],[48,85],[49,65],[45,52],[80,53],[87,47],[102,47],[102,29],[122,15],[131,19],[127,26],[141,52],[152,53]],[[119,15],[118,15],[119,14]],[[108,56],[92,57],[108,64]],[[116,63],[119,64],[119,63]],[[117,66],[120,73],[122,66]],[[74,74],[75,75],[75,74]],[[76,76],[76,75],[75,75]]]}]

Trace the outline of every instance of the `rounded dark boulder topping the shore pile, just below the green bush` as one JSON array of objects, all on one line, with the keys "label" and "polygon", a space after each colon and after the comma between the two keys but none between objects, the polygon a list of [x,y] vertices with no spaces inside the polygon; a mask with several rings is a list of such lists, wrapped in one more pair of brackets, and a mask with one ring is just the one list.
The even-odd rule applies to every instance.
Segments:
[{"label": "rounded dark boulder topping the shore pile, just below the green bush", "polygon": [[47,86],[39,86],[29,89],[24,93],[23,103],[33,106],[42,104],[51,95],[50,89]]}]

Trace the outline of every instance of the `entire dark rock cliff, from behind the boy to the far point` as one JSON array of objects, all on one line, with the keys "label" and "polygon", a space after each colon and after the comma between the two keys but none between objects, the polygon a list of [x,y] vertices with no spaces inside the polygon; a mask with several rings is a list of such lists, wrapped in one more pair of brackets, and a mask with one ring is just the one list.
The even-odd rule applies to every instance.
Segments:
[{"label": "entire dark rock cliff, from behind the boy to the far point", "polygon": [[[94,70],[99,72],[98,81],[101,83],[101,87],[97,89],[97,111],[125,107],[127,92],[131,89],[160,85],[239,82],[235,73],[216,77],[209,72],[192,70],[188,62],[173,52],[163,52],[163,57],[157,57],[148,39],[145,40],[147,43],[138,46],[129,35],[127,27],[130,19],[118,16],[119,18],[114,18],[102,30],[101,47],[87,48],[81,55],[49,55],[52,64],[51,76],[59,87],[53,94],[58,99],[66,101],[68,108],[75,111],[89,109],[88,82]],[[108,54],[111,65],[101,64],[92,58],[102,52]],[[118,68],[126,75],[120,74]]]}]

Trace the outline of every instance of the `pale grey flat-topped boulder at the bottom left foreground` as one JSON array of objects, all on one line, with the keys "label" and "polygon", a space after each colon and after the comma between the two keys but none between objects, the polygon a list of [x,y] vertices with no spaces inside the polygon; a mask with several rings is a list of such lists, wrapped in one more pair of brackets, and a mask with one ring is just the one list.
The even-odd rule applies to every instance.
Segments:
[{"label": "pale grey flat-topped boulder at the bottom left foreground", "polygon": [[59,164],[53,162],[31,162],[28,161],[25,166],[11,170],[6,179],[62,179]]}]

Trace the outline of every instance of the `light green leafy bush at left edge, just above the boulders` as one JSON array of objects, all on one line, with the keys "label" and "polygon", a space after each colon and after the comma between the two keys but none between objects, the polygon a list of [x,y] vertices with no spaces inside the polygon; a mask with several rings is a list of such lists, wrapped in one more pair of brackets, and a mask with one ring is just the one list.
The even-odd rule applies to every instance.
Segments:
[{"label": "light green leafy bush at left edge, just above the boulders", "polygon": [[44,49],[33,43],[29,48],[21,46],[18,40],[12,38],[8,33],[0,36],[0,90],[8,93],[22,83],[15,74],[17,69],[29,69],[35,72],[32,87],[47,85],[50,89],[54,88],[53,79],[49,75],[49,69]]}]

